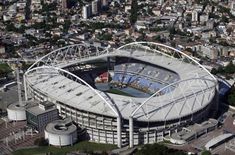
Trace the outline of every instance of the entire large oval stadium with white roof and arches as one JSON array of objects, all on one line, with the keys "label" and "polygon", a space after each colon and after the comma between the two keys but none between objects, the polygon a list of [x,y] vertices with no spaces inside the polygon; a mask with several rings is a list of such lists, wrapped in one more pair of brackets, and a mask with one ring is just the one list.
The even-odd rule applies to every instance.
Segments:
[{"label": "entire large oval stadium with white roof and arches", "polygon": [[50,52],[24,74],[27,100],[49,101],[89,140],[154,143],[217,107],[217,80],[183,52],[153,42],[117,49],[90,44]]}]

